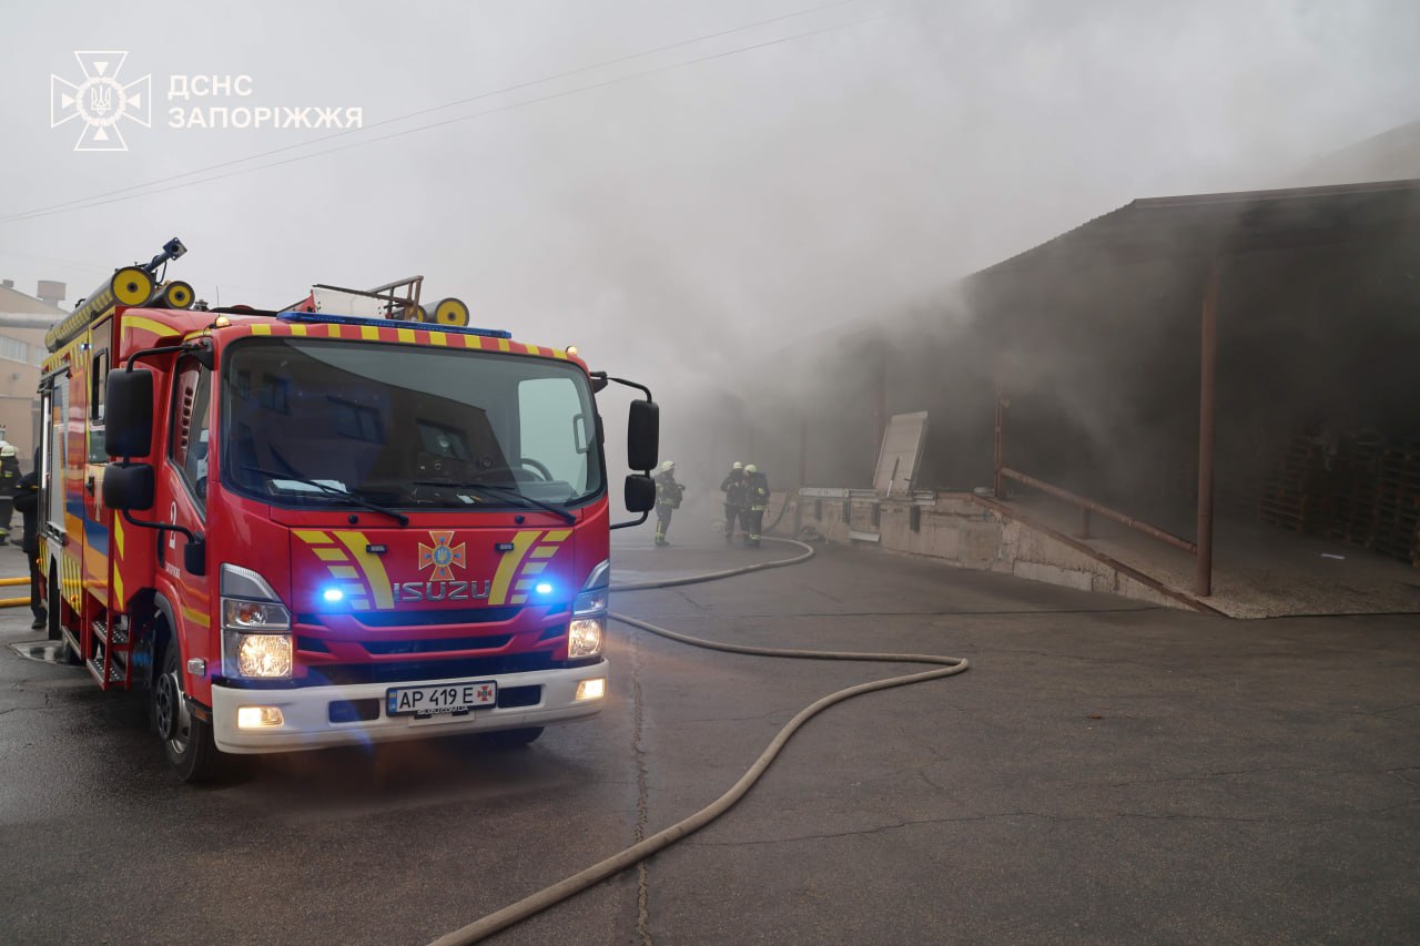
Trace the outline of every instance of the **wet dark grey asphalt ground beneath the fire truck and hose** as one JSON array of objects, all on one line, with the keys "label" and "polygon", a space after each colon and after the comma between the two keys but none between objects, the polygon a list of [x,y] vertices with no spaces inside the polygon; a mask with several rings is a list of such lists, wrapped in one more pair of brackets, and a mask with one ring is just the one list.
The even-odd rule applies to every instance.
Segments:
[{"label": "wet dark grey asphalt ground beneath the fire truck and hose", "polygon": [[[642,531],[619,580],[788,554]],[[1414,615],[1227,621],[843,548],[612,607],[971,669],[829,709],[724,818],[494,942],[1420,940]],[[0,643],[28,622],[0,611]],[[0,940],[423,943],[707,804],[824,693],[912,669],[625,626],[609,658],[606,710],[527,749],[266,757],[195,788],[141,700],[3,646]]]}]

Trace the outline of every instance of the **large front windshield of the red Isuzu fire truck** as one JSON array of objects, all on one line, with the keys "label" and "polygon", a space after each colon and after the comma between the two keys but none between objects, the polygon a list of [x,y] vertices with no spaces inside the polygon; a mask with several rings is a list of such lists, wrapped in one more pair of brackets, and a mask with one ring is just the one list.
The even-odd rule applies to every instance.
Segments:
[{"label": "large front windshield of the red Isuzu fire truck", "polygon": [[222,483],[267,503],[559,511],[602,490],[591,386],[572,364],[253,338],[222,372]]}]

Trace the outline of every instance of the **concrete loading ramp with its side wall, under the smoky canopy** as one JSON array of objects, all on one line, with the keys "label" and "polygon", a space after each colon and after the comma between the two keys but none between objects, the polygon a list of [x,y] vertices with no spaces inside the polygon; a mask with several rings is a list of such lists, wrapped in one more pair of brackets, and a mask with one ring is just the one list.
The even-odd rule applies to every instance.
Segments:
[{"label": "concrete loading ramp with its side wall, under the smoky canopy", "polygon": [[[780,531],[937,558],[961,568],[1234,618],[1420,614],[1420,568],[1265,526],[1220,521],[1214,594],[1193,594],[1193,557],[1123,526],[1078,534],[1074,509],[1047,497],[998,503],[971,493],[882,500],[869,490],[777,496]],[[865,541],[869,540],[870,541]]]}]

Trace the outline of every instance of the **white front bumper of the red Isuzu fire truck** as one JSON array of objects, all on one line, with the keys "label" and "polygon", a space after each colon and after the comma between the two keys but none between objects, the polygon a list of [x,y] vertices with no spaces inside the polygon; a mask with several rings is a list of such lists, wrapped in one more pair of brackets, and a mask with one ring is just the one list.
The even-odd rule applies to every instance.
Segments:
[{"label": "white front bumper of the red Isuzu fire truck", "polygon": [[[305,686],[278,690],[213,686],[213,736],[222,751],[250,754],[547,726],[599,713],[606,699],[578,702],[577,685],[582,680],[606,679],[608,668],[606,660],[601,660],[571,670],[469,678],[494,680],[500,693],[515,686],[541,686],[542,695],[532,706],[510,706],[507,709],[490,706],[476,709],[469,716],[435,716],[430,719],[386,716],[385,692],[393,686],[432,686],[447,680],[400,680],[399,683]],[[379,702],[381,709],[376,719],[349,723],[331,722],[331,703],[371,699]],[[237,729],[237,707],[240,706],[275,706],[281,710],[283,723],[263,729]]]}]

